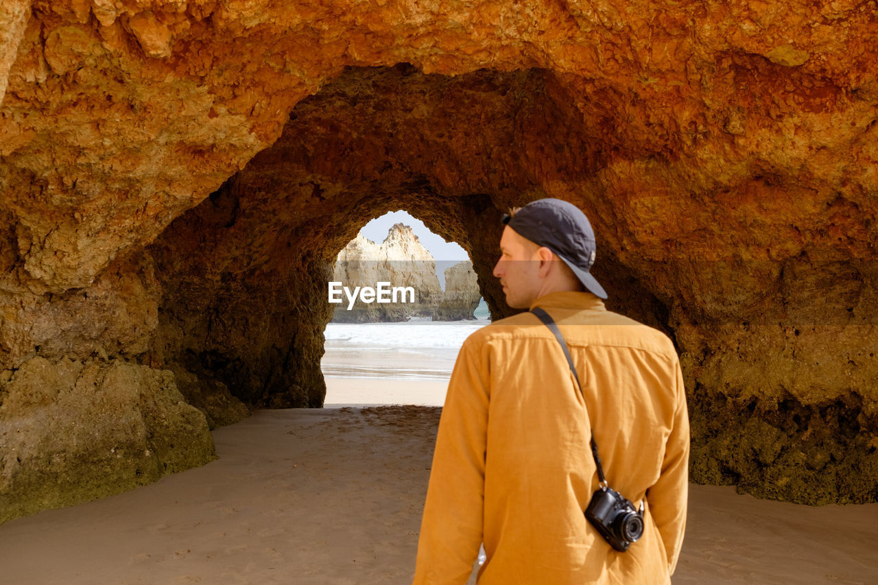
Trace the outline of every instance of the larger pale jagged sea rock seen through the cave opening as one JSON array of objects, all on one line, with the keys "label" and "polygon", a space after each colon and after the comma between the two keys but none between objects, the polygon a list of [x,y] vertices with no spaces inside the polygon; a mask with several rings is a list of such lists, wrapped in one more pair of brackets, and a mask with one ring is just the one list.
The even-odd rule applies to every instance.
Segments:
[{"label": "larger pale jagged sea rock seen through the cave opening", "polygon": [[351,292],[356,286],[374,288],[379,282],[414,288],[414,302],[379,303],[373,300],[367,303],[357,299],[350,309],[348,298],[342,294],[342,303],[335,307],[335,322],[407,321],[412,317],[431,317],[443,300],[433,256],[421,245],[412,228],[401,223],[393,225],[380,244],[363,235],[351,240],[335,261],[333,280],[341,282]]}]

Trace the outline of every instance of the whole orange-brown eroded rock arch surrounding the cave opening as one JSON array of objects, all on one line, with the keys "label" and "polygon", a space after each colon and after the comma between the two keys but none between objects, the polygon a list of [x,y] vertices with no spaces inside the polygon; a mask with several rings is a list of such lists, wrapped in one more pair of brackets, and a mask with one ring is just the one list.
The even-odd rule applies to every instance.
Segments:
[{"label": "whole orange-brown eroded rock arch surrounding the cave opening", "polygon": [[[366,220],[460,243],[501,316],[497,218],[548,195],[592,220],[611,306],[680,348],[694,480],[878,500],[876,62],[853,1],[0,0],[0,395],[105,358],[320,406],[326,282]],[[102,457],[82,473],[138,460]]]}]

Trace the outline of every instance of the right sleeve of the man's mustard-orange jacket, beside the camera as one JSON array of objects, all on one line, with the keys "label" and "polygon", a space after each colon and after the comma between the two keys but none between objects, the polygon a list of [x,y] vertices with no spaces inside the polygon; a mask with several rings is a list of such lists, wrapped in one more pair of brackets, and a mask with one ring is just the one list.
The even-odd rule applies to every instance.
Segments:
[{"label": "right sleeve of the man's mustard-orange jacket, beside the camera", "polygon": [[689,414],[679,362],[675,363],[675,368],[673,426],[665,444],[661,475],[647,493],[650,513],[665,545],[668,574],[673,574],[680,557],[689,492]]}]

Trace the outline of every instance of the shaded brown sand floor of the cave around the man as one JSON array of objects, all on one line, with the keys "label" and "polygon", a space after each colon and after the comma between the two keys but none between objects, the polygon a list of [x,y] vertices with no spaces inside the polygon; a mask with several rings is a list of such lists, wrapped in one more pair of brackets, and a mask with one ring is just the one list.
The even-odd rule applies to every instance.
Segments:
[{"label": "shaded brown sand floor of the cave around the man", "polygon": [[[364,395],[349,388],[330,398]],[[219,459],[206,466],[0,526],[0,582],[410,582],[439,412],[259,411],[214,431]],[[692,486],[673,581],[878,583],[876,544],[878,504]]]}]

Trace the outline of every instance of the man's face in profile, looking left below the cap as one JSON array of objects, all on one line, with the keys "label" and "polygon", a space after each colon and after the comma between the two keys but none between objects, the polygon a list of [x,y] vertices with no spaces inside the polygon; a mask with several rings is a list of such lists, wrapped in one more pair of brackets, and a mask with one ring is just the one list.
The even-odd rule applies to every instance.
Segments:
[{"label": "man's face in profile, looking left below the cap", "polygon": [[516,234],[511,227],[503,228],[500,260],[494,266],[493,275],[500,278],[509,307],[529,308],[536,299],[540,290],[538,249],[539,246]]}]

